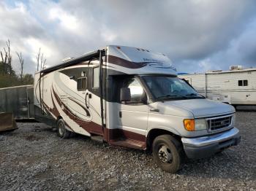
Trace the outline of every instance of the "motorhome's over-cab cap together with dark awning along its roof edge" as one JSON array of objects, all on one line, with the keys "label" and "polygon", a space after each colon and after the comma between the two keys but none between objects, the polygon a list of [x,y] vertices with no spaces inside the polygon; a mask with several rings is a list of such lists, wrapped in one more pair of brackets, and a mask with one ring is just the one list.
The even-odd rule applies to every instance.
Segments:
[{"label": "motorhome's over-cab cap together with dark awning along its roof edge", "polygon": [[[106,52],[107,50],[108,52]],[[116,70],[124,71],[127,74],[171,74],[176,76],[176,69],[173,68],[170,59],[158,52],[137,47],[126,47],[119,45],[108,45],[105,49],[88,52],[78,58],[72,58],[59,65],[43,69],[42,73],[48,73],[77,63],[91,61],[108,54],[108,63],[113,64]]]}]

